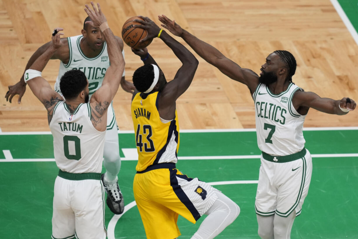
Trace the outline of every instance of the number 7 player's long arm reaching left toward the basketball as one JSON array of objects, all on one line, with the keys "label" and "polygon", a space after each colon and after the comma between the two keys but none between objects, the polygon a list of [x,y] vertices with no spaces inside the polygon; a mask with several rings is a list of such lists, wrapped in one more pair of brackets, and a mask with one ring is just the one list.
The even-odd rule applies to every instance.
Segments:
[{"label": "number 7 player's long arm reaching left toward the basketball", "polygon": [[253,93],[258,85],[258,75],[250,69],[241,68],[232,60],[225,57],[218,49],[203,42],[188,31],[182,29],[175,21],[165,15],[158,16],[161,26],[168,29],[172,34],[180,36],[193,50],[208,63],[217,67],[222,73],[231,79],[246,84]]}]

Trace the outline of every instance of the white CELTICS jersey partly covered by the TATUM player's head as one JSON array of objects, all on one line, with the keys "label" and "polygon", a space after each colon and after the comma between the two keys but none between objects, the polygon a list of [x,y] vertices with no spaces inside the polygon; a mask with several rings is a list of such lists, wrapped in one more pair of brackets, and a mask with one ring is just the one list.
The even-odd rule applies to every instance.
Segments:
[{"label": "white CELTICS jersey partly covered by the TATUM player's head", "polygon": [[82,35],[68,37],[69,61],[65,65],[61,61],[55,83],[55,91],[60,92],[60,79],[64,73],[72,69],[81,70],[88,79],[89,97],[102,86],[107,68],[110,66],[107,44],[103,42],[103,49],[96,57],[88,58],[81,50]]}]

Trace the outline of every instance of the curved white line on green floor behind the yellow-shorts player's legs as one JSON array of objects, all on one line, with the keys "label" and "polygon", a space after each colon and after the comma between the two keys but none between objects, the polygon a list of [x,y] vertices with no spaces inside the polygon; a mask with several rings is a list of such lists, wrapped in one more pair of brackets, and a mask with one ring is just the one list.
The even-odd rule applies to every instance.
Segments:
[{"label": "curved white line on green floor behind the yellow-shorts player's legs", "polygon": [[[227,184],[257,184],[258,180],[239,180],[239,181],[219,181],[219,182],[208,182],[209,185],[227,185]],[[123,216],[129,209],[133,208],[136,204],[135,201],[124,206],[124,211],[120,215],[113,215],[110,222],[108,223],[107,228],[107,237],[108,239],[115,239],[114,229],[116,227],[117,221]]]}]

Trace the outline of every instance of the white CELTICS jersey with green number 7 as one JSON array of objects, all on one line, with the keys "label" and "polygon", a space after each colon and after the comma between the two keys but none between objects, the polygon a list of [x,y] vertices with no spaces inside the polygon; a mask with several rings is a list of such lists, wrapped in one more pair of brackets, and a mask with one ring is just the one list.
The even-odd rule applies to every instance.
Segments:
[{"label": "white CELTICS jersey with green number 7", "polygon": [[292,104],[297,90],[302,89],[290,83],[286,91],[273,94],[265,84],[258,84],[253,99],[257,145],[261,151],[284,156],[303,149],[303,122],[306,116],[299,114]]}]

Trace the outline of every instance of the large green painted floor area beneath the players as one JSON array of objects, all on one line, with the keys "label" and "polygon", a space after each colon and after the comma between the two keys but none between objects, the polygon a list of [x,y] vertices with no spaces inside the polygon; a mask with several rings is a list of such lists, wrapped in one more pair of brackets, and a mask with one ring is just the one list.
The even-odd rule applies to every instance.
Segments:
[{"label": "large green painted floor area beneath the players", "polygon": [[[358,129],[304,131],[304,136],[306,148],[317,157],[313,158],[311,186],[291,238],[358,238]],[[118,137],[121,148],[134,148],[134,133],[120,133]],[[0,238],[50,238],[53,185],[58,168],[53,161],[16,162],[16,159],[53,158],[52,140],[52,135],[0,135]],[[5,159],[6,152],[11,153],[15,162]],[[337,155],[342,153],[347,155]],[[257,180],[260,160],[245,157],[259,154],[256,132],[180,133],[179,157],[214,157],[182,159],[177,168],[206,182]],[[222,159],[233,155],[245,156]],[[125,156],[122,151],[121,156]],[[134,201],[135,166],[136,161],[122,161],[118,175],[126,205]],[[254,209],[257,184],[214,187],[241,208],[238,218],[217,238],[259,238]],[[106,206],[107,226],[112,217]],[[179,216],[180,238],[190,238],[203,218],[194,225]],[[136,206],[122,215],[113,229],[115,238],[145,238]]]}]

